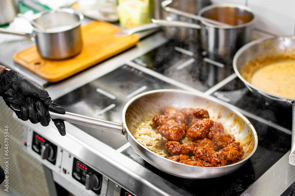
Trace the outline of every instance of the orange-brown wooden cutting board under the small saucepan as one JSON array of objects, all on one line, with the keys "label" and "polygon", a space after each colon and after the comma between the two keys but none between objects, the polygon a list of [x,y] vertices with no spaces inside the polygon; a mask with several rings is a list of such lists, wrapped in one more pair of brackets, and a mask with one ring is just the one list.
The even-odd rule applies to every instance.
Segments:
[{"label": "orange-brown wooden cutting board under the small saucepan", "polygon": [[48,82],[58,82],[136,45],[139,37],[116,37],[121,28],[102,21],[92,21],[81,28],[83,48],[80,54],[66,60],[46,60],[40,57],[36,45],[13,55],[14,62]]}]

